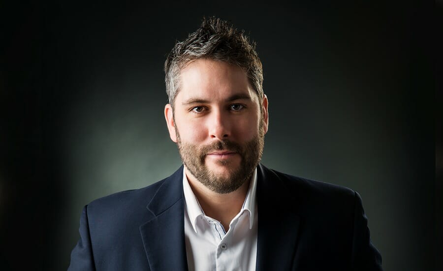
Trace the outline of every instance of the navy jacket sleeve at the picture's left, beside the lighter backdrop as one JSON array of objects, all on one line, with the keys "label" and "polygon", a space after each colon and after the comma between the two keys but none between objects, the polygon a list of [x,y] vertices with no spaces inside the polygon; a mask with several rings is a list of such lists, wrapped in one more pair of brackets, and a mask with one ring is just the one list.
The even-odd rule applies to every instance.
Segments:
[{"label": "navy jacket sleeve at the picture's left, beside the lighter backdrop", "polygon": [[94,257],[89,233],[88,205],[83,208],[80,217],[80,239],[71,252],[68,271],[95,271]]}]

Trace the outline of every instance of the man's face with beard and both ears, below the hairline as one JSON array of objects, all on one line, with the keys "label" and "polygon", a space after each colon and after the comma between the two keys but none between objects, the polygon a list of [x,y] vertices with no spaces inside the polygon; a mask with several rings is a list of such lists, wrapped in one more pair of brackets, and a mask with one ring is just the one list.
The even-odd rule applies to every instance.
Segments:
[{"label": "man's face with beard and both ears, below the hairline", "polygon": [[189,173],[217,193],[239,188],[261,158],[267,105],[237,66],[198,59],[184,68],[165,118]]}]

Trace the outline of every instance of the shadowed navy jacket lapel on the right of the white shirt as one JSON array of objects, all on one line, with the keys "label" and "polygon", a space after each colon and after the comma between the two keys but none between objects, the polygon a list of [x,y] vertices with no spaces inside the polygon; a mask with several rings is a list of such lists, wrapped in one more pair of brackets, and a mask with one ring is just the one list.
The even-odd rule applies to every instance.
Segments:
[{"label": "shadowed navy jacket lapel on the right of the white shirt", "polygon": [[259,165],[257,173],[256,270],[291,270],[300,223],[293,196],[273,171]]}]

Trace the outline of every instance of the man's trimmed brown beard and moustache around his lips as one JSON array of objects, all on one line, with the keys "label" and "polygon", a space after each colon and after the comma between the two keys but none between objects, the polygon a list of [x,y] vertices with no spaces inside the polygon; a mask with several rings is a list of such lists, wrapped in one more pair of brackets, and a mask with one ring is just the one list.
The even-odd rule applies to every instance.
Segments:
[{"label": "man's trimmed brown beard and moustache around his lips", "polygon": [[[190,173],[211,191],[226,194],[237,190],[245,181],[249,180],[261,160],[264,146],[263,122],[260,122],[259,132],[252,140],[243,144],[229,140],[215,141],[207,145],[197,145],[182,142],[177,128],[177,146],[183,164]],[[241,162],[237,168],[230,168],[227,177],[216,174],[205,165],[206,155],[219,150],[227,150],[240,155]],[[223,159],[217,161],[221,166],[228,167],[232,161]]]}]

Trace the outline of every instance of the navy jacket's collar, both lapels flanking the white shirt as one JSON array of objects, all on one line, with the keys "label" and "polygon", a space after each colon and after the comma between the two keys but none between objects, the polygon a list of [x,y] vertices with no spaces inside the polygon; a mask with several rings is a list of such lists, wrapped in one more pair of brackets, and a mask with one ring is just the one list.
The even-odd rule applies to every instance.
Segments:
[{"label": "navy jacket's collar, both lapels flanking the white shirt", "polygon": [[[300,218],[280,176],[257,167],[257,271],[290,270],[294,264]],[[147,206],[154,217],[140,226],[152,271],[188,270],[184,202],[182,166],[159,186]]]}]

